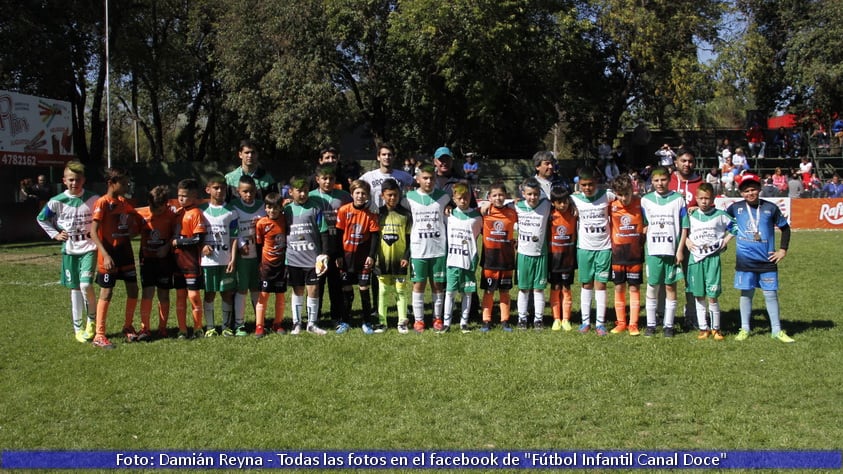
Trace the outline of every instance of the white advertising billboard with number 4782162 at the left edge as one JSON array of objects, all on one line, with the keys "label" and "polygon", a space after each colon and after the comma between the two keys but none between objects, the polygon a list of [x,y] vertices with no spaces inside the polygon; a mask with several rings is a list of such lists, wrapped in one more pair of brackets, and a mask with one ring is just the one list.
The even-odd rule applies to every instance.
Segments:
[{"label": "white advertising billboard with number 4782162 at the left edge", "polygon": [[63,166],[73,157],[70,102],[0,90],[0,167]]}]

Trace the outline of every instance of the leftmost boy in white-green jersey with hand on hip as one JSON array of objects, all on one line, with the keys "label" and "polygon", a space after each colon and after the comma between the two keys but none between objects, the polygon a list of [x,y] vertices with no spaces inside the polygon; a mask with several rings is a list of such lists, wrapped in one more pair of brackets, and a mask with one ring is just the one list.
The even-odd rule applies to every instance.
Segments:
[{"label": "leftmost boy in white-green jersey with hand on hip", "polygon": [[47,201],[37,221],[51,239],[62,242],[61,284],[70,289],[73,332],[77,341],[88,342],[96,326],[92,283],[97,246],[91,240],[91,213],[99,196],[85,190],[85,165],[79,161],[67,164],[62,183],[67,190]]}]

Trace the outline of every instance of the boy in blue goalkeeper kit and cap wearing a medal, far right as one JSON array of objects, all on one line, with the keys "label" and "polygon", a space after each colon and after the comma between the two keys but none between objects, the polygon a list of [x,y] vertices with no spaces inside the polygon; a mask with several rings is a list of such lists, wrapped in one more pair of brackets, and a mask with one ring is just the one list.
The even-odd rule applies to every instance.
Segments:
[{"label": "boy in blue goalkeeper kit and cap wearing a medal, far right", "polygon": [[[735,236],[735,289],[741,292],[741,329],[735,340],[743,341],[749,337],[752,297],[755,289],[761,288],[773,339],[793,342],[781,328],[778,294],[778,263],[787,255],[790,225],[779,206],[760,198],[761,179],[757,175],[745,174],[738,189],[743,200],[726,209],[735,218],[738,229]],[[782,233],[778,250],[775,249],[776,227]]]}]

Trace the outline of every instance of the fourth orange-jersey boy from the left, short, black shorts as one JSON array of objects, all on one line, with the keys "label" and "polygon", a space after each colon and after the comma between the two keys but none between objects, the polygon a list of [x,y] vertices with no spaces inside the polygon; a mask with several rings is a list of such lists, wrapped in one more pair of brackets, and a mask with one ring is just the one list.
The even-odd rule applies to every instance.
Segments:
[{"label": "fourth orange-jersey boy from the left, short, black shorts", "polygon": [[273,331],[283,334],[281,323],[284,321],[284,299],[287,293],[287,221],[284,219],[282,198],[278,193],[269,193],[264,199],[266,216],[255,224],[255,244],[261,256],[260,274],[261,292],[255,305],[255,337],[260,339],[266,334],[266,304],[269,295],[275,294],[275,321]]}]

